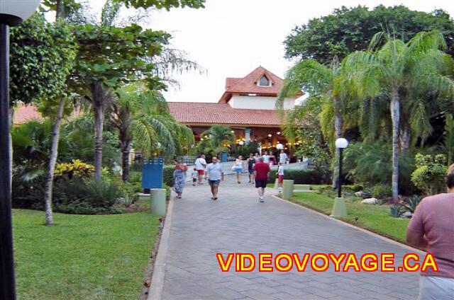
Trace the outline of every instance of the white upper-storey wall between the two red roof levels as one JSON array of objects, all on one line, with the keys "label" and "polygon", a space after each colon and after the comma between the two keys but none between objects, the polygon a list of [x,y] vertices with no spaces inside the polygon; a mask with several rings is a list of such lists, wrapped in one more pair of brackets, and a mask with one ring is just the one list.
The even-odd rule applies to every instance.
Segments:
[{"label": "white upper-storey wall between the two red roof levels", "polygon": [[[275,110],[276,97],[262,96],[233,96],[228,103],[232,108],[248,108],[253,110]],[[291,110],[295,106],[294,99],[285,99],[284,110]]]}]

